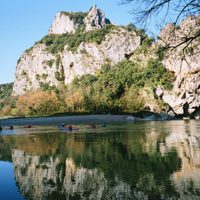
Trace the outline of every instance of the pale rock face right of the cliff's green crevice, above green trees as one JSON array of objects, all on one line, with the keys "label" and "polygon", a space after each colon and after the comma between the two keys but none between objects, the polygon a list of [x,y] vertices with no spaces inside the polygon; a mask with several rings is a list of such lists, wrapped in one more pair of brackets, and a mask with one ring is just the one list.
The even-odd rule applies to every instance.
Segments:
[{"label": "pale rock face right of the cliff's green crevice, above green trees", "polygon": [[118,63],[139,46],[140,36],[118,28],[107,35],[100,45],[81,43],[77,52],[68,51],[66,47],[61,55],[65,83],[70,83],[76,76],[94,74],[105,63]]}]

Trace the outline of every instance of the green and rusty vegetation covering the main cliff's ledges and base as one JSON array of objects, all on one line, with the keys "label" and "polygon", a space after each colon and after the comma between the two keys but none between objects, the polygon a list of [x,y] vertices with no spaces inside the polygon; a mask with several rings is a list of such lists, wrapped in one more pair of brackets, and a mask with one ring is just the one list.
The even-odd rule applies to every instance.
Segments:
[{"label": "green and rusty vegetation covering the main cliff's ledges and base", "polygon": [[[84,18],[82,13],[65,14],[70,15],[75,21]],[[79,24],[82,24],[81,21]],[[75,52],[81,43],[101,44],[109,33],[122,29],[140,36],[141,45],[136,51],[115,65],[107,62],[95,74],[85,74],[76,77],[71,84],[64,84],[66,77],[60,56],[64,48]],[[153,99],[154,105],[156,104],[160,111],[164,104],[160,99],[154,98],[155,88],[159,86],[171,90],[174,77],[160,62],[162,55],[157,55],[156,58],[155,49],[152,48],[153,42],[144,30],[138,30],[132,24],[119,28],[109,24],[102,29],[89,32],[85,32],[84,25],[81,25],[73,34],[47,35],[37,43],[45,44],[46,51],[55,54],[55,59],[47,60],[44,64],[49,68],[56,65],[54,77],[59,81],[59,86],[43,83],[42,80],[48,77],[48,73],[38,73],[36,80],[40,84],[40,89],[15,98],[16,101],[10,97],[11,92],[7,95],[8,98],[4,95],[0,114],[38,116],[64,112],[133,113],[151,110],[148,104],[150,99]],[[154,55],[150,55],[152,49],[151,54]]]}]

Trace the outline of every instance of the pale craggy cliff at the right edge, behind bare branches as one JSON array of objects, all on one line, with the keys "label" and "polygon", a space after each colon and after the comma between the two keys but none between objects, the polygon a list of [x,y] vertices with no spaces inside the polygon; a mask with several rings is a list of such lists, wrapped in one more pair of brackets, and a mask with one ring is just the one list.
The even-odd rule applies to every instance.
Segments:
[{"label": "pale craggy cliff at the right edge, behind bare branches", "polygon": [[180,26],[169,24],[158,41],[158,45],[171,47],[163,64],[176,79],[171,92],[157,91],[177,115],[191,115],[200,106],[200,42],[194,39],[184,43],[197,34],[199,24],[200,15],[186,18]]}]

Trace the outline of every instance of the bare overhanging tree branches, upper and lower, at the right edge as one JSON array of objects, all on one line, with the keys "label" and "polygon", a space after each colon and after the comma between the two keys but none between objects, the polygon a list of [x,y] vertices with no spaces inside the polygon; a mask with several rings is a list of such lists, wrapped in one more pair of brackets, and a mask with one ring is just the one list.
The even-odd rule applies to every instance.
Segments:
[{"label": "bare overhanging tree branches, upper and lower, at the right edge", "polygon": [[[135,22],[143,26],[152,18],[154,20],[161,19],[163,24],[173,20],[173,24],[177,25],[186,16],[194,16],[200,13],[199,0],[122,0],[122,3],[133,4],[132,14]],[[172,46],[167,45],[166,48],[177,48],[185,45],[183,48],[186,49],[200,37],[200,26],[198,24],[194,31],[183,34],[178,43]]]}]

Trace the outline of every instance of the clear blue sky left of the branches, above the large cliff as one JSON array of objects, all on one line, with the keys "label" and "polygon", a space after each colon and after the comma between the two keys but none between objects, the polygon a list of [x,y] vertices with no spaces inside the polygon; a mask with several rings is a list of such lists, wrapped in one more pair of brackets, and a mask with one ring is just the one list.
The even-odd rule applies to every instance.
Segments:
[{"label": "clear blue sky left of the branches, above the large cliff", "polygon": [[17,60],[48,33],[57,12],[87,12],[94,4],[114,24],[133,22],[131,5],[120,0],[1,0],[0,84],[14,81]]}]

